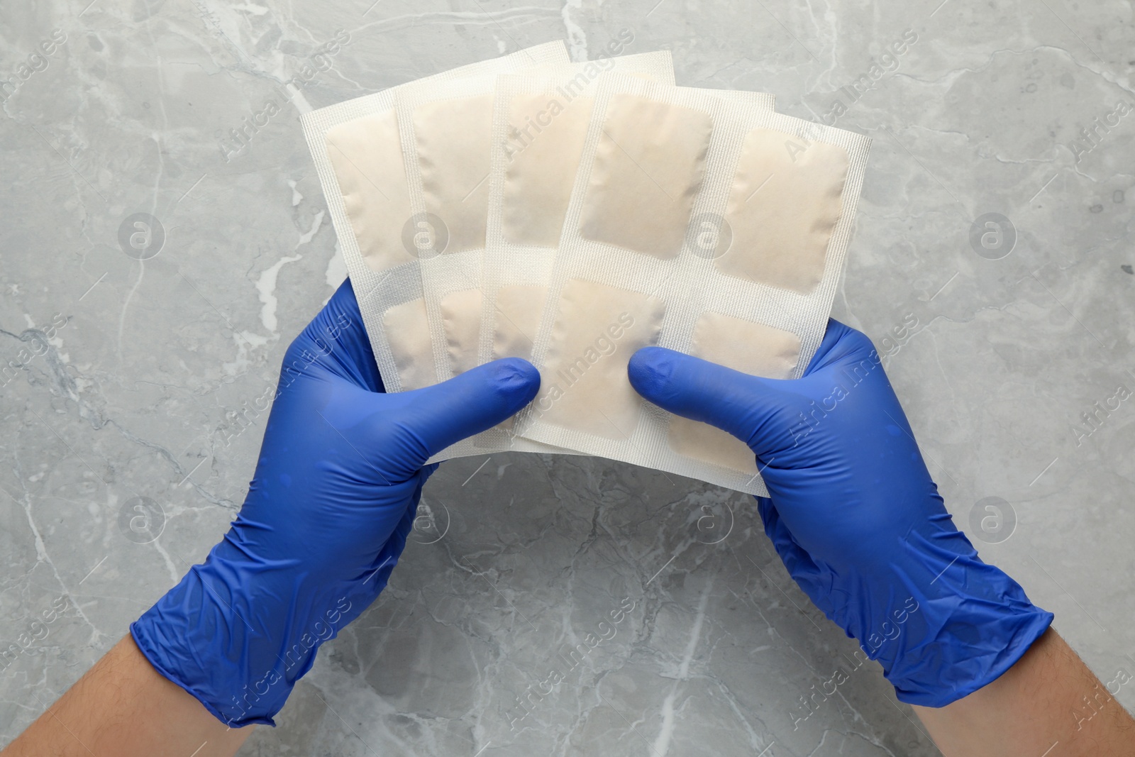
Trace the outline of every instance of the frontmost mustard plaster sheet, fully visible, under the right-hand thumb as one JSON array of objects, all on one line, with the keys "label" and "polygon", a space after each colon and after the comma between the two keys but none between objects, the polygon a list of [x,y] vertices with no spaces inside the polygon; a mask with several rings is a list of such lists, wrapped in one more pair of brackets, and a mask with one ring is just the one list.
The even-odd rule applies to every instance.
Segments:
[{"label": "frontmost mustard plaster sheet, fully visible, under the right-hand thumb", "polygon": [[745,444],[627,378],[659,345],[798,378],[824,335],[869,140],[705,91],[604,75],[516,432],[749,494]]}]

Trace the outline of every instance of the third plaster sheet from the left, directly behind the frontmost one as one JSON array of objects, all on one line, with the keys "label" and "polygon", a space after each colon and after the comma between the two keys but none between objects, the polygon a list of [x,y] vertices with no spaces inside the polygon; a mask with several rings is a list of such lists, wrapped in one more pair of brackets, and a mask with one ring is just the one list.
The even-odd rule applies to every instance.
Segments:
[{"label": "third plaster sheet from the left, directly behind the frontmost one", "polygon": [[[628,60],[630,59],[622,59]],[[669,62],[669,59],[667,59]],[[478,360],[532,356],[532,344],[595,103],[598,69],[497,77]],[[620,73],[630,73],[617,69]],[[640,72],[639,78],[672,84]],[[669,78],[669,81],[667,81]],[[707,90],[773,110],[763,92]],[[522,441],[494,429],[491,444]],[[493,431],[486,432],[486,436]],[[481,441],[481,444],[490,444]]]}]

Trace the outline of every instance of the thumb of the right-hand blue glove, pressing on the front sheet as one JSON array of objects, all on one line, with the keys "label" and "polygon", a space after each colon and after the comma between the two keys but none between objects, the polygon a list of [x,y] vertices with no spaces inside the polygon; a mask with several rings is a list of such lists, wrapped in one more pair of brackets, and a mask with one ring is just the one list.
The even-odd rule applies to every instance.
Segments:
[{"label": "thumb of the right-hand blue glove, pressing on the front sheet", "polygon": [[636,352],[627,373],[646,399],[675,415],[729,431],[757,456],[785,431],[774,422],[784,410],[777,385],[785,381],[750,376],[665,347]]}]

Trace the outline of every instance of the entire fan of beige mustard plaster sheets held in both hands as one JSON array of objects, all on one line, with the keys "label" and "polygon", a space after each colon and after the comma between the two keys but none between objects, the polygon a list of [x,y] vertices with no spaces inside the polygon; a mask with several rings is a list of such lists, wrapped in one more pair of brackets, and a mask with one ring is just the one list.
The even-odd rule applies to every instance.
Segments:
[{"label": "entire fan of beige mustard plaster sheets held in both hands", "polygon": [[303,117],[387,392],[499,358],[540,392],[435,460],[603,455],[765,494],[743,443],[641,399],[670,347],[798,378],[832,306],[869,140],[773,96],[675,86],[669,52],[537,45]]}]

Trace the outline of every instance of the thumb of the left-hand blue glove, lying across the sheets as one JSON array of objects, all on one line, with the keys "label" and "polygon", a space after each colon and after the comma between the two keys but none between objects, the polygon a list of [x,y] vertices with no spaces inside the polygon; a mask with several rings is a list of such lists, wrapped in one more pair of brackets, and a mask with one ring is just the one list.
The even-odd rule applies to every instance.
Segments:
[{"label": "thumb of the left-hand blue glove, lying across the sheets", "polygon": [[382,395],[385,412],[401,430],[411,470],[451,444],[493,428],[527,405],[540,373],[527,360],[506,358],[478,365],[423,389]]}]

